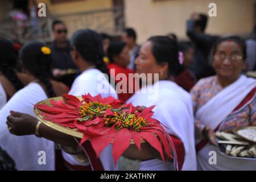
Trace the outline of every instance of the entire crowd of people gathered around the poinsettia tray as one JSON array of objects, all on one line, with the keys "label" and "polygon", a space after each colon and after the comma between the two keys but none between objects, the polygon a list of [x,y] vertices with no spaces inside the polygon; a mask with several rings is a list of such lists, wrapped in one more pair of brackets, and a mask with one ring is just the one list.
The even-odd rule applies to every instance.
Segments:
[{"label": "entire crowd of people gathered around the poinsettia tray", "polygon": [[[119,38],[93,30],[78,30],[70,41],[64,22],[55,20],[51,46],[41,42],[19,45],[0,39],[0,170],[92,170],[76,138],[51,129],[34,115],[34,104],[47,98],[90,94],[112,96],[143,111],[155,106],[153,117],[182,147],[163,162],[149,145],[129,147],[113,162],[111,144],[102,151],[104,170],[256,170],[253,160],[218,154],[216,131],[232,132],[256,126],[256,30],[248,39],[238,35],[205,34],[207,15],[193,13],[187,22],[189,41],[175,34],[151,36],[140,46],[133,28]],[[104,73],[107,77],[98,80]],[[137,80],[130,75],[158,74]],[[126,90],[115,85],[126,76]],[[114,85],[112,81],[114,80]],[[144,82],[143,82],[144,81]],[[138,90],[135,84],[139,83]],[[100,92],[98,85],[109,92]],[[158,97],[148,92],[158,84]],[[132,89],[129,89],[132,88]],[[171,146],[170,146],[171,147]],[[38,151],[47,162],[38,164]],[[209,152],[217,152],[217,164]],[[183,163],[176,167],[176,158]],[[180,158],[179,158],[180,160]]]}]

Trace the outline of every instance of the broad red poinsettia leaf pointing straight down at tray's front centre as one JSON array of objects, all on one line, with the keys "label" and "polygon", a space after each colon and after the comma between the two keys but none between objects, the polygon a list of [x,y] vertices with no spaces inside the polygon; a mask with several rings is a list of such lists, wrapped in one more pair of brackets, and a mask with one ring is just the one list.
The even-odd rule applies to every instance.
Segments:
[{"label": "broad red poinsettia leaf pointing straight down at tray's front centre", "polygon": [[113,142],[113,158],[114,163],[117,163],[119,156],[125,152],[125,150],[129,147],[131,143],[131,134],[129,130],[122,129],[117,131],[114,135],[114,142]]}]

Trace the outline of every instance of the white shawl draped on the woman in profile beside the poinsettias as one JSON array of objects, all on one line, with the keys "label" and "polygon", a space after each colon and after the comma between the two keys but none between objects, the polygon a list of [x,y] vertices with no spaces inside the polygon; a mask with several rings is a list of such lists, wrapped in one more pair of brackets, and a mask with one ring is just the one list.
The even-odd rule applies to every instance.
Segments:
[{"label": "white shawl draped on the woman in profile beside the poinsettias", "polygon": [[[159,81],[139,90],[127,101],[130,102],[134,106],[155,105],[153,117],[168,127],[165,128],[168,134],[175,135],[183,142],[185,159],[182,170],[196,170],[193,110],[189,93],[175,82]],[[175,160],[174,163],[166,163],[152,159],[141,162],[139,170],[174,170],[176,166]]]}]

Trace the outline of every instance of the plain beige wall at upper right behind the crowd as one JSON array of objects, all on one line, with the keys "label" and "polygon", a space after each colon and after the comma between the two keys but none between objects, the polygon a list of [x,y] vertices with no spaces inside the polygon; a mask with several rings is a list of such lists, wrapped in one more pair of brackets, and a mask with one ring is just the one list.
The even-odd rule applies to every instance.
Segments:
[{"label": "plain beige wall at upper right behind the crowd", "polygon": [[217,17],[209,17],[206,32],[245,35],[253,30],[255,0],[125,0],[126,26],[135,28],[139,43],[169,32],[187,39],[186,20],[195,11],[208,14],[211,2],[217,5]]}]

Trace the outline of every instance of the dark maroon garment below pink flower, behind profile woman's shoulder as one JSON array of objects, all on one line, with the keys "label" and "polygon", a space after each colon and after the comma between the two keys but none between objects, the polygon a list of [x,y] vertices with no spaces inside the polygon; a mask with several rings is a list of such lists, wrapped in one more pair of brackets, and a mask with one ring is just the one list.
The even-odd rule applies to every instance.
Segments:
[{"label": "dark maroon garment below pink flower, behind profile woman's shoulder", "polygon": [[188,69],[185,69],[185,71],[180,73],[179,76],[175,76],[174,79],[176,84],[178,84],[188,92],[192,89],[192,87],[196,83],[195,78],[193,77],[192,73]]}]

